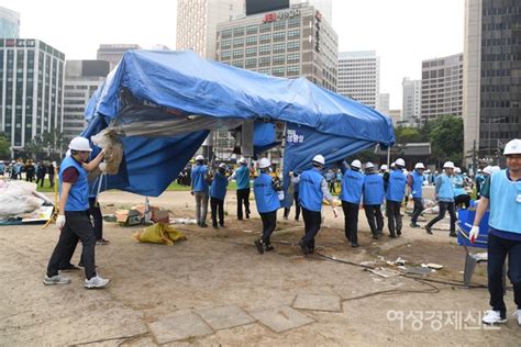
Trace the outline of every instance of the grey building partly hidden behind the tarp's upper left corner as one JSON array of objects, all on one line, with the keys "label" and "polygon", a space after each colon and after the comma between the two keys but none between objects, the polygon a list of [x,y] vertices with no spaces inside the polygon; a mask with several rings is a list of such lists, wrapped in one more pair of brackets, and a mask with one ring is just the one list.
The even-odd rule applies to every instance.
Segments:
[{"label": "grey building partly hidden behind the tarp's upper left corner", "polygon": [[87,126],[85,108],[110,72],[110,63],[103,60],[67,60],[64,83],[64,130],[68,143]]}]

